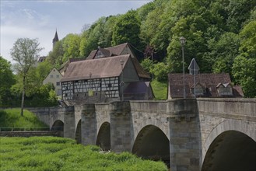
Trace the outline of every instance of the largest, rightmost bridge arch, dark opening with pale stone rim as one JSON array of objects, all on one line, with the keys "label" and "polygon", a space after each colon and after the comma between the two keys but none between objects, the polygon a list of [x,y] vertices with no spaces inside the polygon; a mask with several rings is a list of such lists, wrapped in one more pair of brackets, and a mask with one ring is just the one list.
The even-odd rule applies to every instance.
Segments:
[{"label": "largest, rightmost bridge arch, dark opening with pale stone rim", "polygon": [[255,170],[255,126],[243,120],[217,125],[202,147],[202,171]]}]

